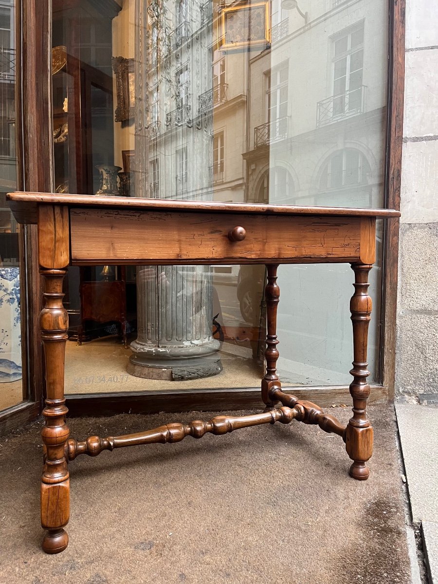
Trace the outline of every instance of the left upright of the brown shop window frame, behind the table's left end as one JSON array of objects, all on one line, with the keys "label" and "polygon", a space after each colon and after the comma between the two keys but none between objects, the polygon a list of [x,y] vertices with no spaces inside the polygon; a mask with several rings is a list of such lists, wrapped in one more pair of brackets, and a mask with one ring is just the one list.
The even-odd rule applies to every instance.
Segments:
[{"label": "left upright of the brown shop window frame, behind the table's left end", "polygon": [[[42,33],[41,33],[42,31]],[[53,190],[51,123],[51,2],[16,0],[16,156],[19,188]],[[20,72],[20,74],[18,74]],[[40,275],[35,225],[20,231],[23,401],[0,412],[0,435],[37,418],[43,409],[44,371],[39,332]],[[29,298],[29,302],[27,302]],[[24,334],[23,334],[24,333]]]}]

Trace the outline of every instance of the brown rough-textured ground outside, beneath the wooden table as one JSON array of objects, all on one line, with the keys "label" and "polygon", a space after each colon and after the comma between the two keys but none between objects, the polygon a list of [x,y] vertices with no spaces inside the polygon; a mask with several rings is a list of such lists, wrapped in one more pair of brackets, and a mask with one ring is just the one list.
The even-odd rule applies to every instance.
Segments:
[{"label": "brown rough-textured ground outside, beneath the wooden table", "polygon": [[[0,582],[408,584],[394,413],[370,416],[365,482],[347,475],[338,436],[298,423],[79,457],[69,547],[54,556],[39,547],[40,427],[30,426],[1,442]],[[197,417],[69,422],[84,437]]]}]

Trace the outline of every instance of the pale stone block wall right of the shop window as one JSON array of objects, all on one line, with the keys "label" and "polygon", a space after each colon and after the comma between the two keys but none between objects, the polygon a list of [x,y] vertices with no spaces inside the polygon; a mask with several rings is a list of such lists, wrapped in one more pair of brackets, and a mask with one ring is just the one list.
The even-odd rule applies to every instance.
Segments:
[{"label": "pale stone block wall right of the shop window", "polygon": [[395,373],[398,398],[438,394],[437,22],[436,2],[406,0]]}]

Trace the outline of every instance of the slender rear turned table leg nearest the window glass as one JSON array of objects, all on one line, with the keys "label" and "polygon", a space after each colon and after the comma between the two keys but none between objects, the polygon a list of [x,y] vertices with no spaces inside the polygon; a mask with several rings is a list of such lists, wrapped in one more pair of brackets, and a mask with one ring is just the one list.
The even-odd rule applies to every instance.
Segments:
[{"label": "slender rear turned table leg nearest the window glass", "polygon": [[273,385],[280,386],[279,376],[277,375],[277,359],[279,352],[277,345],[277,305],[280,301],[280,288],[277,284],[278,264],[268,264],[267,266],[267,284],[265,287],[266,298],[266,373],[262,379],[262,399],[266,404],[265,412],[276,409],[278,402],[272,401],[269,396],[269,390]]}]

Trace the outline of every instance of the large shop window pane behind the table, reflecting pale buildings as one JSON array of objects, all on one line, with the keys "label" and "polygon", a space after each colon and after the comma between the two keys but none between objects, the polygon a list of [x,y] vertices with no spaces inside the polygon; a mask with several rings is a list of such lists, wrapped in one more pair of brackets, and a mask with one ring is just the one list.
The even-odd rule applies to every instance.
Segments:
[{"label": "large shop window pane behind the table, reflecting pale buildings", "polygon": [[[263,26],[258,2],[236,4],[228,20],[211,0],[124,0],[99,12],[84,0],[54,12],[53,46],[67,48],[53,75],[57,189],[383,206],[387,6],[268,1]],[[258,387],[265,275],[264,266],[69,270],[66,391]],[[352,281],[346,265],[280,267],[285,385],[350,383]],[[192,359],[190,378],[182,358]]]}]

